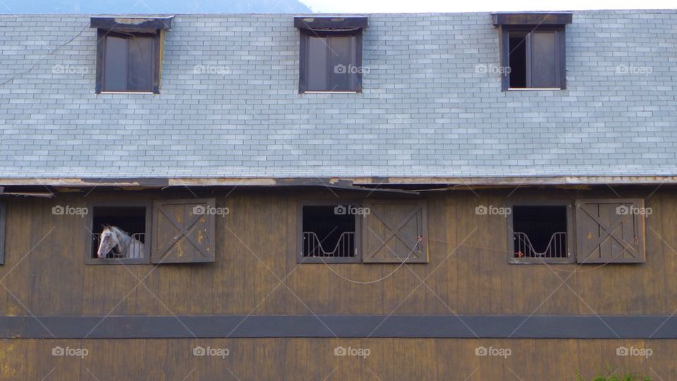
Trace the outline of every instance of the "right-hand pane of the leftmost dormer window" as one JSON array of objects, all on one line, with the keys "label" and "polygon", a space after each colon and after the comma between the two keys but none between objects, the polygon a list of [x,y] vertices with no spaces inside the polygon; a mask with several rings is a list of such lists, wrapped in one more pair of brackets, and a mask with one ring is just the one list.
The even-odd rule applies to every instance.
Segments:
[{"label": "right-hand pane of the leftmost dormer window", "polygon": [[152,37],[129,38],[128,90],[153,90],[153,40]]}]

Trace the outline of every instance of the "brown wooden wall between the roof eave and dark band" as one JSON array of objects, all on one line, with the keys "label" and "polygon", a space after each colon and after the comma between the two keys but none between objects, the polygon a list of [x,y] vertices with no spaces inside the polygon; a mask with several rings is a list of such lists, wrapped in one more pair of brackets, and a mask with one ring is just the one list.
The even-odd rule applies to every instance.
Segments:
[{"label": "brown wooden wall between the roof eave and dark band", "polygon": [[55,216],[51,207],[194,198],[188,191],[8,199],[0,315],[671,315],[677,310],[677,192],[654,189],[616,189],[623,198],[646,198],[652,208],[647,262],[606,266],[508,265],[506,219],[477,215],[475,207],[616,197],[609,188],[426,193],[430,261],[399,268],[297,263],[297,203],[336,199],[327,190],[196,192],[230,209],[216,218],[216,261],[158,267],[85,265],[86,219]]}]

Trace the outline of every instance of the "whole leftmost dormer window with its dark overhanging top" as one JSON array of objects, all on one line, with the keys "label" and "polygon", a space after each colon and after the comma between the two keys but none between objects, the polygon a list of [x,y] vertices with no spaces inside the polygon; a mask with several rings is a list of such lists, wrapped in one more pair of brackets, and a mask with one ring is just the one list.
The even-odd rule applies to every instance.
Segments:
[{"label": "whole leftmost dormer window with its dark overhanging top", "polygon": [[172,18],[94,17],[97,28],[97,94],[159,93],[164,31]]}]

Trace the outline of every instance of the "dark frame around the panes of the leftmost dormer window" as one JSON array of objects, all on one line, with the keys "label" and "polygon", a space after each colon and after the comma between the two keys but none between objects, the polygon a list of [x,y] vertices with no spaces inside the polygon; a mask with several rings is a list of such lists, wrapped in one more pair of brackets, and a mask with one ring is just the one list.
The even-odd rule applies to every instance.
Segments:
[{"label": "dark frame around the panes of the leftmost dormer window", "polygon": [[[160,84],[160,66],[161,66],[161,45],[162,45],[162,34],[163,30],[157,30],[155,33],[143,31],[143,32],[118,32],[114,30],[104,30],[99,29],[97,32],[97,75],[96,75],[96,93],[97,94],[115,94],[115,93],[139,93],[139,94],[159,94],[159,84]],[[117,37],[130,37],[130,35],[152,37],[153,47],[152,47],[152,78],[151,78],[151,88],[148,90],[106,90],[104,89],[105,78],[105,52],[106,52],[106,37],[107,36],[117,36]]]}]

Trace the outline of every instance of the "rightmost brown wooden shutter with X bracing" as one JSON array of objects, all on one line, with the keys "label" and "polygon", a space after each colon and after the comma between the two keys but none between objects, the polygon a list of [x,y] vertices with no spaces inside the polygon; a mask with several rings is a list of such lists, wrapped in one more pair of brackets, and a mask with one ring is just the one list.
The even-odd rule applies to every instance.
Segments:
[{"label": "rightmost brown wooden shutter with X bracing", "polygon": [[645,262],[644,216],[640,199],[577,200],[577,262]]}]

